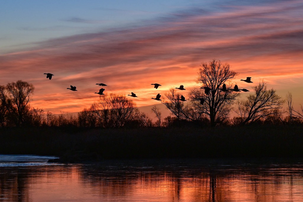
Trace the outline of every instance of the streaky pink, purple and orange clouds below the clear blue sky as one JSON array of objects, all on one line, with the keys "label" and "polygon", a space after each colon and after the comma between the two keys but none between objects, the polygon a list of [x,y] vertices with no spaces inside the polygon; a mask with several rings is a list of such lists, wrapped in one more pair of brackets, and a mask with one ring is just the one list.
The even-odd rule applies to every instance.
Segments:
[{"label": "streaky pink, purple and orange clouds below the clear blue sky", "polygon": [[[293,75],[303,78],[302,8],[298,1],[225,5],[215,11],[188,8],[120,29],[51,39],[0,56],[1,81],[22,79],[39,86],[37,105],[46,100],[45,88],[57,93],[58,100],[47,101],[56,112],[89,107],[97,99],[97,82],[108,84],[109,93],[135,91],[139,106],[153,104],[150,98],[157,93],[197,85],[200,63],[213,58],[231,64],[241,78],[249,74],[277,85]],[[43,78],[45,72],[55,75],[51,81]],[[153,89],[154,82],[161,88]],[[81,90],[71,94],[69,85]]]}]

